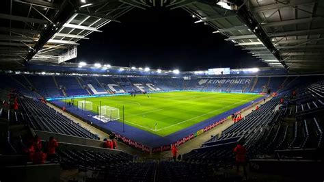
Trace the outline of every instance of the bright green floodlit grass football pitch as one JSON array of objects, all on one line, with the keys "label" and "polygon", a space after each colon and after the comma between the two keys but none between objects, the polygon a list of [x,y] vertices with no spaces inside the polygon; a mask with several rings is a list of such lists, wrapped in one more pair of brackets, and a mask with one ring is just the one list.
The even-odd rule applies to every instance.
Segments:
[{"label": "bright green floodlit grass football pitch", "polygon": [[[261,96],[216,92],[164,92],[137,94],[135,97],[130,95],[95,97],[87,98],[86,101],[92,102],[94,113],[98,113],[100,101],[101,106],[108,105],[120,109],[120,120],[124,105],[124,120],[127,125],[165,136]],[[75,105],[77,101],[84,99],[75,99]]]}]

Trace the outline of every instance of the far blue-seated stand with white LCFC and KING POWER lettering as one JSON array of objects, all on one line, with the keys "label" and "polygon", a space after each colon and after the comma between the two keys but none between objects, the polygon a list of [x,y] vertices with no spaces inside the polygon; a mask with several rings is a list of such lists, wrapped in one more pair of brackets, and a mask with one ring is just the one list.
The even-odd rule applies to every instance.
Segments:
[{"label": "far blue-seated stand with white LCFC and KING POWER lettering", "polygon": [[[201,90],[209,92],[256,92],[267,93],[292,89],[301,81],[298,77],[217,77],[215,79],[176,79],[147,77],[77,77],[57,75],[13,75],[6,86],[17,88],[27,95],[44,97],[113,94],[124,92],[154,92],[146,84],[152,83],[163,91]],[[14,81],[11,81],[14,79]],[[206,82],[202,83],[202,80]],[[241,81],[241,82],[240,82]],[[139,90],[134,84],[143,86]],[[31,90],[35,90],[33,92]]]}]

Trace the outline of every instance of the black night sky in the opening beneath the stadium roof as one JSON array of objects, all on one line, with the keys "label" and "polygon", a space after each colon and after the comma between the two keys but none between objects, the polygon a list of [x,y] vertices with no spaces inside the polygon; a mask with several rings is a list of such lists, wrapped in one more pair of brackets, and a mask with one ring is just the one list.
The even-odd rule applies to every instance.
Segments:
[{"label": "black night sky in the opening beneath the stadium roof", "polygon": [[184,10],[135,9],[81,40],[77,62],[165,70],[265,66]]}]

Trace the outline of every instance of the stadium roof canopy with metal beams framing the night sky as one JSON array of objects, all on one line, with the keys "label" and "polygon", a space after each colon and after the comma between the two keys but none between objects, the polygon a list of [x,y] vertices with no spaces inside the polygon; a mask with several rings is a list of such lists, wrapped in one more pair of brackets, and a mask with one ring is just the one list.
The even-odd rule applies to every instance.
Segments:
[{"label": "stadium roof canopy with metal beams framing the night sky", "polygon": [[[5,0],[0,63],[57,62],[58,55],[133,8],[182,8],[275,68],[324,67],[321,0]],[[230,10],[228,10],[230,9]]]}]

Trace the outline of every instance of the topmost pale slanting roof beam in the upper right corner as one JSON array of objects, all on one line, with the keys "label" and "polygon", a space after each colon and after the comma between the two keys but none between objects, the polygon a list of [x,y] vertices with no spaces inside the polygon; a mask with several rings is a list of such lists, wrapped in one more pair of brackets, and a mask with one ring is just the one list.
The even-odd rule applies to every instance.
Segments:
[{"label": "topmost pale slanting roof beam in the upper right corner", "polygon": [[314,3],[316,0],[291,0],[289,3],[274,3],[271,5],[262,5],[258,8],[252,9],[252,12],[265,12],[268,10],[277,10],[280,8],[286,8],[286,7],[291,7],[295,5],[302,5],[306,3]]}]

